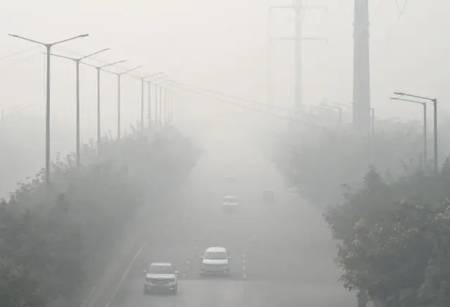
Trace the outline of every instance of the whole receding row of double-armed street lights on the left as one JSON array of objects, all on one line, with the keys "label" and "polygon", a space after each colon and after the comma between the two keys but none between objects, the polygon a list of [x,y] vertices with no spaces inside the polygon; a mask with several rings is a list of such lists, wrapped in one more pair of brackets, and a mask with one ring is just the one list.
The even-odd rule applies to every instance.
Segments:
[{"label": "whole receding row of double-armed street lights on the left", "polygon": [[[68,39],[63,39],[63,40],[60,40],[58,42],[53,42],[53,43],[50,43],[50,44],[49,43],[44,43],[44,42],[38,42],[38,41],[36,41],[34,39],[29,39],[27,37],[22,37],[22,36],[19,36],[19,35],[11,35],[10,34],[9,36],[15,37],[17,39],[23,39],[23,40],[28,41],[28,42],[34,42],[36,44],[41,44],[41,45],[46,47],[46,158],[45,158],[45,160],[46,160],[46,163],[45,163],[46,172],[45,172],[45,182],[46,182],[46,187],[48,189],[49,188],[49,183],[50,183],[50,94],[51,94],[51,91],[50,91],[50,89],[51,89],[51,87],[50,87],[50,84],[51,84],[50,83],[50,81],[51,81],[50,80],[50,75],[51,75],[50,74],[50,62],[51,62],[51,56],[57,56],[59,58],[67,58],[69,60],[75,61],[75,64],[76,64],[76,85],[77,85],[77,90],[76,90],[77,91],[77,94],[76,94],[76,96],[77,96],[77,107],[76,107],[77,108],[77,112],[76,112],[77,113],[77,120],[76,120],[77,121],[77,137],[76,137],[76,139],[77,139],[77,141],[76,141],[77,142],[77,153],[76,153],[76,155],[77,155],[77,165],[78,166],[80,165],[80,143],[81,143],[81,141],[80,141],[80,127],[79,127],[80,126],[80,123],[79,123],[80,122],[80,114],[79,114],[79,64],[82,63],[84,65],[89,65],[89,66],[91,66],[93,68],[96,68],[96,70],[97,70],[97,147],[98,147],[98,149],[100,149],[100,146],[101,146],[101,99],[100,99],[100,93],[101,93],[101,91],[100,91],[100,84],[101,84],[100,83],[100,75],[101,75],[100,72],[101,72],[101,70],[103,70],[103,71],[105,71],[107,73],[113,73],[113,74],[117,75],[117,139],[120,139],[120,125],[121,125],[121,123],[120,123],[120,113],[121,113],[121,105],[120,105],[120,102],[121,102],[121,93],[120,93],[121,84],[120,84],[120,81],[121,81],[121,76],[124,75],[124,74],[130,73],[132,70],[136,70],[136,69],[141,68],[143,66],[139,65],[139,66],[136,66],[136,67],[131,68],[129,70],[125,70],[125,71],[123,71],[121,73],[114,73],[114,72],[111,72],[111,71],[108,71],[108,70],[104,70],[104,68],[107,68],[107,67],[110,67],[110,66],[113,66],[113,65],[117,65],[117,64],[120,64],[120,63],[124,63],[127,60],[117,61],[117,62],[114,62],[114,63],[107,63],[107,64],[104,64],[104,65],[91,65],[91,64],[82,62],[82,60],[84,60],[86,58],[90,58],[91,56],[94,56],[96,54],[100,54],[100,53],[102,53],[104,51],[108,51],[108,50],[110,50],[110,48],[102,49],[102,50],[96,51],[96,52],[94,52],[92,54],[89,54],[89,55],[86,55],[86,56],[82,56],[82,57],[79,57],[79,58],[71,58],[69,56],[60,56],[58,54],[52,54],[51,53],[51,47],[52,46],[54,46],[56,44],[61,44],[63,42],[68,42],[68,41],[71,41],[71,40],[74,40],[74,39],[79,39],[79,38],[82,38],[82,37],[88,37],[89,36],[88,34],[77,35],[75,37],[70,37]],[[157,76],[159,76],[159,78],[155,78]],[[150,122],[151,122],[150,84],[151,84],[151,82],[154,82],[156,80],[165,79],[168,76],[165,75],[164,73],[160,72],[160,73],[155,73],[155,74],[152,74],[152,75],[146,75],[145,77],[140,77],[141,84],[142,84],[141,85],[141,87],[142,87],[142,90],[141,90],[141,130],[142,131],[143,131],[143,112],[144,112],[144,97],[143,97],[144,96],[144,81],[146,81],[146,79],[149,79],[150,77],[152,77],[153,80],[147,80],[147,82],[148,82],[148,123],[149,123],[149,125],[150,125]],[[162,88],[159,87],[159,90],[160,90],[159,96],[155,96],[156,97],[156,99],[155,99],[155,124],[158,127],[160,125],[162,125],[162,120],[161,120],[161,116],[162,116],[162,101],[161,101],[162,95],[161,95],[161,91],[162,91]],[[155,95],[158,95],[158,87],[156,87],[156,89],[155,89]],[[172,111],[173,111],[173,108],[172,108],[172,96],[169,97],[169,96],[167,96],[167,93],[166,93],[165,98],[166,99],[170,99],[170,100],[165,100],[165,103],[167,104],[167,102],[169,102],[169,104],[170,104],[170,110],[169,110],[171,112],[170,120],[172,120]],[[158,101],[159,101],[159,105],[158,105]],[[167,116],[167,113],[165,113],[165,115]]]}]

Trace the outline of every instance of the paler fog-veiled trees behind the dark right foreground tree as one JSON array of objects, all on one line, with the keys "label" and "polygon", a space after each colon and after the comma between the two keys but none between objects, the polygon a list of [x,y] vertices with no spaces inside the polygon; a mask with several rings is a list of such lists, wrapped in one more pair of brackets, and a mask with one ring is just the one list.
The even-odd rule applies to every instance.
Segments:
[{"label": "paler fog-veiled trees behind the dark right foreground tree", "polygon": [[418,123],[380,122],[374,139],[346,127],[291,128],[278,139],[272,159],[288,185],[325,207],[342,201],[343,186],[357,186],[370,165],[388,181],[421,168],[421,133]]}]

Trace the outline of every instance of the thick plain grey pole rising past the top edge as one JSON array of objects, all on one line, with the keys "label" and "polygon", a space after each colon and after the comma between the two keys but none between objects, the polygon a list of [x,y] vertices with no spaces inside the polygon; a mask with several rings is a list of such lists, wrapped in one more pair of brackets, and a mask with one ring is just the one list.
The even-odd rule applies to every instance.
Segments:
[{"label": "thick plain grey pole rising past the top edge", "polygon": [[371,131],[371,78],[368,0],[354,0],[353,125],[367,135]]}]

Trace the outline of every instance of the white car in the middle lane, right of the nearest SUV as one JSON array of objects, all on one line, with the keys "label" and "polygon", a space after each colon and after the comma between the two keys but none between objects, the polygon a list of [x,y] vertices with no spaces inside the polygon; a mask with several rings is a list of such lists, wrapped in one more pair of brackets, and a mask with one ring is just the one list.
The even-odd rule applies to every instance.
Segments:
[{"label": "white car in the middle lane, right of the nearest SUV", "polygon": [[201,275],[219,274],[230,275],[230,263],[228,251],[224,247],[210,247],[200,256],[202,261]]}]

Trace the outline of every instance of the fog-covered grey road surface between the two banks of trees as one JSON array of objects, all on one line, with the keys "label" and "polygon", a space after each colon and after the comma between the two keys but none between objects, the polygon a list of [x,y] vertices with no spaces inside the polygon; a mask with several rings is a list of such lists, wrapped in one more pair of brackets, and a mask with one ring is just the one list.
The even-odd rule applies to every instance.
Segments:
[{"label": "fog-covered grey road surface between the two banks of trees", "polygon": [[[321,213],[290,194],[265,161],[240,164],[204,157],[191,175],[178,229],[140,251],[109,307],[356,306],[338,282],[335,243]],[[236,175],[236,183],[227,184],[226,175]],[[264,189],[276,191],[275,205],[262,204]],[[241,212],[222,213],[221,198],[233,191]],[[229,249],[231,277],[200,277],[199,256],[209,246]],[[153,261],[179,270],[176,296],[143,294],[142,271]]]}]

